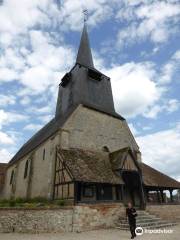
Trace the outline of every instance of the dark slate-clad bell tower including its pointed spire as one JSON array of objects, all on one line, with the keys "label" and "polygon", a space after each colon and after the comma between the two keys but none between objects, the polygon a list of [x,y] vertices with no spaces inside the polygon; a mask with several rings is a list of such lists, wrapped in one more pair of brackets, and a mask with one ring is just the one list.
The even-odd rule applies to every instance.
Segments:
[{"label": "dark slate-clad bell tower including its pointed spire", "polygon": [[110,78],[94,67],[86,22],[84,23],[76,63],[59,85],[56,118],[72,107],[84,104],[97,111],[115,113]]}]

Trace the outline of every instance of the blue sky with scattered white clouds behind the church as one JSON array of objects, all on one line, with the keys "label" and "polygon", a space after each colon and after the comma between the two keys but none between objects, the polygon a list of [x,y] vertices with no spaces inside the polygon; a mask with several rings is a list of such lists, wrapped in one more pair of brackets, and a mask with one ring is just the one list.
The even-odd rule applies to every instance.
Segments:
[{"label": "blue sky with scattered white clouds behind the church", "polygon": [[95,67],[143,161],[180,180],[179,0],[1,0],[0,162],[53,118],[84,9]]}]

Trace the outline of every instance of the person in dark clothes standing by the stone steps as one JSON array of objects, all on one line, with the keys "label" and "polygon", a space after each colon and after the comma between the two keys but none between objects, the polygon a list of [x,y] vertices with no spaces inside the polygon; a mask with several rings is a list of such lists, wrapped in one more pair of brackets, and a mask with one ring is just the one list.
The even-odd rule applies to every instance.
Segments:
[{"label": "person in dark clothes standing by the stone steps", "polygon": [[131,203],[128,203],[128,208],[126,208],[126,217],[128,217],[129,228],[131,232],[131,239],[136,237],[135,229],[136,229],[136,209],[132,207]]}]

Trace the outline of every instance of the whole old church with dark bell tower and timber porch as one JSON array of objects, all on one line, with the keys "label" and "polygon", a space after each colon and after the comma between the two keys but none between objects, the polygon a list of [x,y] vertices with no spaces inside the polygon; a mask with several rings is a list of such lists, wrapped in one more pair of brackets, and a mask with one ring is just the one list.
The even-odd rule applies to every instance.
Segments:
[{"label": "whole old church with dark bell tower and timber porch", "polygon": [[86,23],[76,63],[59,84],[54,118],[3,169],[3,199],[131,201],[145,209],[148,202],[165,203],[165,191],[173,202],[173,190],[180,189],[178,181],[142,162],[126,119],[115,111],[110,76],[94,66]]}]

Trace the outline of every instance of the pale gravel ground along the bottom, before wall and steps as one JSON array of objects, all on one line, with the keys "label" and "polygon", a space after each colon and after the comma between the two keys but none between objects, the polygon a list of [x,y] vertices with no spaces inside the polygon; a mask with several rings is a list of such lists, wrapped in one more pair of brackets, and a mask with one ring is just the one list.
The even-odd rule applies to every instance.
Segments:
[{"label": "pale gravel ground along the bottom, before wall and steps", "polygon": [[[180,225],[169,228],[173,233],[144,233],[136,239],[143,240],[180,240]],[[0,233],[0,240],[126,240],[130,233],[118,229],[97,230],[82,233],[19,234]]]}]

